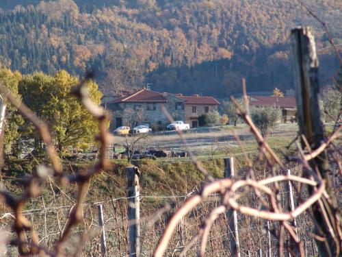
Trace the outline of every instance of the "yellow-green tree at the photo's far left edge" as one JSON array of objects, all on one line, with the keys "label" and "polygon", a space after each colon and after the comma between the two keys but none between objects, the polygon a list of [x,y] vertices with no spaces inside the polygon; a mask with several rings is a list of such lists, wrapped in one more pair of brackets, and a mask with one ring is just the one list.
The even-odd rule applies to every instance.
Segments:
[{"label": "yellow-green tree at the photo's far left edge", "polygon": [[[10,93],[17,99],[21,99],[18,94],[18,83],[21,80],[21,74],[17,71],[12,73],[10,69],[0,69],[0,83],[3,84]],[[19,127],[24,123],[23,117],[18,114],[18,111],[12,104],[8,103],[4,97],[0,95],[0,136],[4,138],[5,154],[18,154],[18,151],[13,151],[14,146],[18,145]],[[5,132],[5,134],[3,134]]]}]

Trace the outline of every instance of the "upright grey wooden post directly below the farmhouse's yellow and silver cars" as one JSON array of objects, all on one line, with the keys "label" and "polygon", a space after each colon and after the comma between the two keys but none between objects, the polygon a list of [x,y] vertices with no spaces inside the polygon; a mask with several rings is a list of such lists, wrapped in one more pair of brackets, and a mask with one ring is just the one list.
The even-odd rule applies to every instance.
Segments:
[{"label": "upright grey wooden post directly below the farmhouse's yellow and silver cars", "polygon": [[129,219],[129,256],[140,256],[140,171],[127,167],[127,197]]}]

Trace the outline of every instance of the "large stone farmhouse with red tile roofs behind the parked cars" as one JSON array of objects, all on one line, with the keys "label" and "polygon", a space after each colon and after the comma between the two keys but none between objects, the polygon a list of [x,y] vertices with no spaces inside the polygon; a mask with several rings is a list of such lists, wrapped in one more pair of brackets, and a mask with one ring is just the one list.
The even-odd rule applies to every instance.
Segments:
[{"label": "large stone farmhouse with red tile roofs behind the parked cars", "polygon": [[162,110],[163,106],[174,119],[185,121],[190,127],[197,127],[198,117],[216,109],[220,103],[213,97],[157,93],[149,88],[143,88],[131,93],[122,93],[103,104],[114,114],[111,121],[113,129],[128,125],[129,115],[134,112],[140,113],[137,123],[154,128],[165,127],[169,121]]}]

